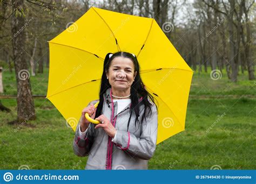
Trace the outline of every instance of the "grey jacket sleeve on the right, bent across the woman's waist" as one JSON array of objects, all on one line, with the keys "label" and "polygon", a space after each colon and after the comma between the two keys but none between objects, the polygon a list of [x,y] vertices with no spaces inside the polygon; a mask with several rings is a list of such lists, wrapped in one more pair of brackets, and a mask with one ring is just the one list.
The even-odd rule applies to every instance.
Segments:
[{"label": "grey jacket sleeve on the right, bent across the woman's waist", "polygon": [[142,122],[142,133],[136,137],[133,133],[124,130],[117,130],[116,143],[114,145],[121,150],[131,153],[140,159],[149,160],[156,150],[158,112],[156,105],[152,106],[151,117],[146,117],[146,123]]}]

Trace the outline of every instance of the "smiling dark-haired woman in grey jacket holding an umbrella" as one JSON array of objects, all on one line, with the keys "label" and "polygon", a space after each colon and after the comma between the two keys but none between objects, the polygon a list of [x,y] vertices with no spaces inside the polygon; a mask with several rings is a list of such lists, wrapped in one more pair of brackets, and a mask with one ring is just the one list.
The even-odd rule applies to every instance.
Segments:
[{"label": "smiling dark-haired woman in grey jacket holding an umbrella", "polygon": [[[99,100],[83,109],[73,141],[76,155],[89,155],[85,169],[147,169],[156,150],[158,109],[139,71],[134,54],[106,55]],[[101,123],[88,122],[86,112]]]}]

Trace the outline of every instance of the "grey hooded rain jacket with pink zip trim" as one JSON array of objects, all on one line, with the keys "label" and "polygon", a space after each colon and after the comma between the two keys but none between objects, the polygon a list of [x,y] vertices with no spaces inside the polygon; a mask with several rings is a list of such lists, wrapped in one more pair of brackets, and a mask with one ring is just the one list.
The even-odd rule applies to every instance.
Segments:
[{"label": "grey hooded rain jacket with pink zip trim", "polygon": [[[139,126],[135,127],[135,114],[131,116],[129,130],[127,123],[130,117],[130,105],[127,105],[117,115],[117,102],[112,103],[111,88],[104,94],[103,114],[117,129],[117,140],[113,143],[112,138],[102,129],[95,129],[96,124],[90,123],[86,130],[85,139],[79,137],[78,122],[73,150],[78,157],[89,155],[85,169],[147,169],[148,160],[152,158],[156,150],[158,112],[153,104],[151,117],[146,117]],[[141,100],[141,99],[140,99]],[[93,104],[99,100],[92,101]],[[112,106],[114,111],[112,111]],[[140,105],[139,122],[142,121],[144,104]],[[113,114],[112,114],[113,113]],[[136,131],[137,130],[137,131]]]}]

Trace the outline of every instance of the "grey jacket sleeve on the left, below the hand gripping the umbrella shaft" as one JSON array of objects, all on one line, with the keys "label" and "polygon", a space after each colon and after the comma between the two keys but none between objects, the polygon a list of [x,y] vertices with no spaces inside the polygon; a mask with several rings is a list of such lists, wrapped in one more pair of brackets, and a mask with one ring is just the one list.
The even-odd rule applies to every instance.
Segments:
[{"label": "grey jacket sleeve on the left, below the hand gripping the umbrella shaft", "polygon": [[[87,105],[87,107],[90,104],[93,104],[93,102],[90,102]],[[95,137],[95,124],[90,123],[88,128],[85,131],[85,137],[81,138],[79,135],[81,120],[82,120],[82,116],[80,117],[76,127],[75,138],[73,140],[73,151],[78,157],[86,157],[87,155],[89,155],[91,146],[93,144],[93,139]]]}]

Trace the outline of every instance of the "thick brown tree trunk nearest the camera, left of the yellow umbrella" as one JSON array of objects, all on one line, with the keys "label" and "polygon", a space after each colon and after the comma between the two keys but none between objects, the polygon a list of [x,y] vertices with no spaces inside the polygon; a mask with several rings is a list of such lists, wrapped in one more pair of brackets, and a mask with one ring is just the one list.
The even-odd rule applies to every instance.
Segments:
[{"label": "thick brown tree trunk nearest the camera, left of the yellow umbrella", "polygon": [[[11,31],[12,31],[12,49],[14,54],[14,66],[17,82],[17,110],[18,122],[21,123],[25,119],[36,119],[35,107],[32,98],[32,91],[29,80],[28,66],[23,51],[24,31],[19,31],[25,24],[23,12],[24,0],[12,0]],[[15,17],[15,15],[18,15]],[[15,37],[16,35],[16,37]]]}]

